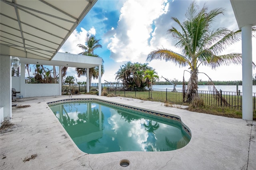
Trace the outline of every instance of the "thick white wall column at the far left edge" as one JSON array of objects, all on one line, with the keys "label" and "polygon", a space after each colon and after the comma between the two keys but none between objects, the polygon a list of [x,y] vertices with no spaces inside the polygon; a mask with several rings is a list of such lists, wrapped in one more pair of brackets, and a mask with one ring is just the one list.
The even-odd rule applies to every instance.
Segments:
[{"label": "thick white wall column at the far left edge", "polygon": [[[10,56],[0,57],[0,110],[4,117],[12,118],[12,59]],[[0,118],[1,120],[3,119]]]}]

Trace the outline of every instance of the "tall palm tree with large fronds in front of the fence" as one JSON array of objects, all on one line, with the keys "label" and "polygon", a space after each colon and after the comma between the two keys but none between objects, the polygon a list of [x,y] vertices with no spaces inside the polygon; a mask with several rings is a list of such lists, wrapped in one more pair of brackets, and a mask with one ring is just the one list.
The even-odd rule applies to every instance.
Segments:
[{"label": "tall palm tree with large fronds in front of the fence", "polygon": [[162,48],[151,51],[146,59],[146,61],[153,59],[173,61],[182,67],[189,66],[190,80],[186,93],[188,101],[191,101],[197,94],[198,67],[200,65],[208,65],[215,69],[220,65],[242,63],[242,54],[240,53],[218,55],[228,45],[238,42],[241,38],[241,30],[210,29],[216,16],[223,14],[223,12],[223,8],[215,8],[208,12],[207,6],[204,5],[202,9],[199,9],[196,2],[192,2],[185,14],[186,20],[181,23],[177,18],[172,17],[179,28],[172,27],[167,31],[177,40],[175,46],[182,49],[182,53],[179,54]]}]

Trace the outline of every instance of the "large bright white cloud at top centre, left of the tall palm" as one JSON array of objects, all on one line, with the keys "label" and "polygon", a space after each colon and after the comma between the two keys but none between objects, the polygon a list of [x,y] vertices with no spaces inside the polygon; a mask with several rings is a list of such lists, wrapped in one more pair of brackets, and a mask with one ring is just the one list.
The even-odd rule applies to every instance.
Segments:
[{"label": "large bright white cloud at top centre, left of the tall palm", "polygon": [[110,58],[117,62],[138,62],[141,55],[147,55],[152,22],[165,14],[167,8],[164,1],[126,1],[120,10],[118,28],[108,44]]}]

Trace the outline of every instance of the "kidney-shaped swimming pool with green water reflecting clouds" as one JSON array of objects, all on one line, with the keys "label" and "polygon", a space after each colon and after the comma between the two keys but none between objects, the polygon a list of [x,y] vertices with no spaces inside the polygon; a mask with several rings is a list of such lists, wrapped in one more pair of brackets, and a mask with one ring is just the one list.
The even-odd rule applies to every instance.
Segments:
[{"label": "kidney-shaped swimming pool with green water reflecting clouds", "polygon": [[177,116],[99,99],[67,99],[48,105],[78,148],[89,154],[176,150],[191,138]]}]

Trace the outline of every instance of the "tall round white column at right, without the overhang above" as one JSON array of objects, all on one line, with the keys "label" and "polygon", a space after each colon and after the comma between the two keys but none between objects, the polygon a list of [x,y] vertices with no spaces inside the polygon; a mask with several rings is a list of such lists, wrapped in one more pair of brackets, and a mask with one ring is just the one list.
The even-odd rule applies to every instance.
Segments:
[{"label": "tall round white column at right, without the overhang above", "polygon": [[242,30],[242,119],[252,121],[252,26]]}]

